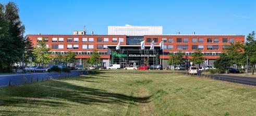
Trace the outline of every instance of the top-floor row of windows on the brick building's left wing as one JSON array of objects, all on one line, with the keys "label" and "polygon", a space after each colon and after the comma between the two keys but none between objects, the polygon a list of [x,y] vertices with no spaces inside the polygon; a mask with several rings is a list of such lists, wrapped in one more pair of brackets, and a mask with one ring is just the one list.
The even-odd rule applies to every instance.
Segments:
[{"label": "top-floor row of windows on the brick building's left wing", "polygon": [[[41,41],[42,39],[43,39],[42,37],[38,37],[38,41]],[[112,38],[112,42],[117,42],[117,39],[120,42],[124,42],[124,38]],[[48,42],[49,38],[44,37],[44,41]],[[94,38],[86,38],[86,37],[82,38],[82,42],[93,42],[93,41],[94,41]],[[64,42],[64,38],[62,38],[62,37],[59,37],[59,38],[53,37],[52,42]],[[77,38],[77,37],[75,37],[75,38],[68,37],[67,42],[79,42],[79,38]],[[97,42],[109,42],[109,39],[98,37]]]}]

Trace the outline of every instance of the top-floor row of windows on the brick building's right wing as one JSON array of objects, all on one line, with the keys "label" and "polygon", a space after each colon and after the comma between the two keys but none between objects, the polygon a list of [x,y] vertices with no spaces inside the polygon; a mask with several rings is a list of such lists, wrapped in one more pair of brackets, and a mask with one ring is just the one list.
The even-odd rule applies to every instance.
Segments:
[{"label": "top-floor row of windows on the brick building's right wing", "polygon": [[[164,42],[173,42],[174,38],[162,38]],[[158,42],[158,38],[147,38],[147,42]],[[188,42],[189,38],[176,38],[176,42]],[[207,38],[207,42],[217,43],[220,41],[220,38]],[[204,38],[192,38],[192,42],[204,42]],[[234,42],[234,38],[222,38],[222,42]]]}]

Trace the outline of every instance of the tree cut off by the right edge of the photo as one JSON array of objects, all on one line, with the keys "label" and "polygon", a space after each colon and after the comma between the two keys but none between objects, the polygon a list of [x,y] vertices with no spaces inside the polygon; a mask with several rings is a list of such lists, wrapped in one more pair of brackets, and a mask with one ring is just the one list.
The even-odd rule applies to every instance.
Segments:
[{"label": "tree cut off by the right edge of the photo", "polygon": [[251,65],[252,75],[254,75],[253,67],[256,64],[256,40],[254,31],[247,36],[246,40],[246,55],[248,55],[249,65]]}]

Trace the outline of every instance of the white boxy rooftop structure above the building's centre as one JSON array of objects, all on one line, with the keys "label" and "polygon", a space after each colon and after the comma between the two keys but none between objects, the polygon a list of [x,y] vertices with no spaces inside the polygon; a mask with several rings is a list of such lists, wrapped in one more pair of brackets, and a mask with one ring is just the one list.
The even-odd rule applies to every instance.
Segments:
[{"label": "white boxy rooftop structure above the building's centre", "polygon": [[127,36],[144,36],[144,35],[162,35],[163,26],[108,26],[108,35],[127,35]]}]

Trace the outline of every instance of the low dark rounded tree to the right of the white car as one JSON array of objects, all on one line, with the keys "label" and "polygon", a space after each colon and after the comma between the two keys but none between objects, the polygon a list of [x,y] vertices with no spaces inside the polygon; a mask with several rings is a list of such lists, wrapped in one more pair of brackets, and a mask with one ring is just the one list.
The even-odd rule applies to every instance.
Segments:
[{"label": "low dark rounded tree to the right of the white car", "polygon": [[227,54],[222,54],[218,59],[214,62],[214,67],[220,68],[220,69],[227,69],[229,66],[231,66],[233,63],[231,61],[231,58],[227,56]]}]

